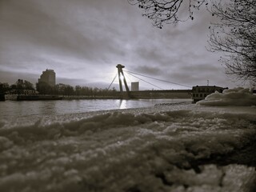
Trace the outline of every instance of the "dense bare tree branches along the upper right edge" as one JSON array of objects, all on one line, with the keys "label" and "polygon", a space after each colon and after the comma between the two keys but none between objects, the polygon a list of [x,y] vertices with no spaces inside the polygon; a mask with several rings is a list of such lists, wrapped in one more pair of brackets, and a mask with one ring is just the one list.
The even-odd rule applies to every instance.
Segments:
[{"label": "dense bare tree branches along the upper right edge", "polygon": [[226,74],[256,82],[256,0],[213,2],[219,18],[210,30],[210,51],[222,52]]}]

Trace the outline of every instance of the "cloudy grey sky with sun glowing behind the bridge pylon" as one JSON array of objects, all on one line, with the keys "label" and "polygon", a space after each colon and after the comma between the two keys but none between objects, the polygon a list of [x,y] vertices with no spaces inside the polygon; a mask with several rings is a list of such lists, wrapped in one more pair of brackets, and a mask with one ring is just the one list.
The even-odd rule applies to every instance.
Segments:
[{"label": "cloudy grey sky with sun glowing behind the bridge pylon", "polygon": [[128,84],[139,81],[141,89],[187,89],[207,80],[210,86],[237,86],[220,54],[206,50],[210,19],[200,10],[193,21],[158,29],[127,0],[1,0],[0,82],[36,83],[51,69],[57,83],[106,88],[120,63],[178,84],[125,73]]}]

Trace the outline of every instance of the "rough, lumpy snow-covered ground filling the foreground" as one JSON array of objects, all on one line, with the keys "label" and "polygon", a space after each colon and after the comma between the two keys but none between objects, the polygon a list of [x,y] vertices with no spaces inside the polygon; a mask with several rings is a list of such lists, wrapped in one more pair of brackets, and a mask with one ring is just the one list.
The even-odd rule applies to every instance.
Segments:
[{"label": "rough, lumpy snow-covered ground filling the foreground", "polygon": [[[255,191],[256,96],[248,93],[2,121],[0,189]],[[245,94],[246,106],[234,106]]]}]

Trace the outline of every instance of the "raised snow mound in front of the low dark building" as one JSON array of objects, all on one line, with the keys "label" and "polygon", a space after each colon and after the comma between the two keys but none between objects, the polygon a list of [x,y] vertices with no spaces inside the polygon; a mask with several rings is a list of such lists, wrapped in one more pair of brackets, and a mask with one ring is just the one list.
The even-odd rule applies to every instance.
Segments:
[{"label": "raised snow mound in front of the low dark building", "polygon": [[223,90],[223,93],[215,91],[197,103],[202,106],[256,106],[256,95],[253,89],[237,87]]}]

